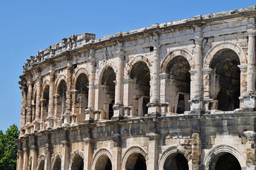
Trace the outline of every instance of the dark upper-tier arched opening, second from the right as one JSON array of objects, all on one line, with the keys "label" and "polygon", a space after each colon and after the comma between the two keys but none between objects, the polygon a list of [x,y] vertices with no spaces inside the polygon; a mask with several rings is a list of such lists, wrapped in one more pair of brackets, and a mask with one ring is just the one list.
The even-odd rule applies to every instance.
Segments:
[{"label": "dark upper-tier arched opening, second from the right", "polygon": [[173,113],[190,110],[190,66],[185,57],[177,56],[166,66],[169,80],[169,102]]}]

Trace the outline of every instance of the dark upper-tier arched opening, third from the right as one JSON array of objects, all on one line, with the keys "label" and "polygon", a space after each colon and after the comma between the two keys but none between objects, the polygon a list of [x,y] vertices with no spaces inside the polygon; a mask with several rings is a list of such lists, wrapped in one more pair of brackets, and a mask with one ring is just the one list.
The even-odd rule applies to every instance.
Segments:
[{"label": "dark upper-tier arched opening, third from the right", "polygon": [[143,117],[148,113],[150,100],[150,71],[145,62],[137,62],[132,67],[130,77],[134,80],[133,106],[134,116]]}]

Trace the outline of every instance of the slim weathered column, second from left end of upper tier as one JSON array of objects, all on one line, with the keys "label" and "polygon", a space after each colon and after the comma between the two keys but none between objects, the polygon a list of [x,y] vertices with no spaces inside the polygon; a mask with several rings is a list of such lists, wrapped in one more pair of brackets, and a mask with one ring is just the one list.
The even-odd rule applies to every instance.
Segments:
[{"label": "slim weathered column, second from left end of upper tier", "polygon": [[27,101],[28,101],[28,108],[27,108],[27,117],[26,117],[26,133],[30,133],[29,129],[31,127],[31,121],[32,121],[32,93],[33,93],[33,82],[28,81],[28,96],[27,96]]}]

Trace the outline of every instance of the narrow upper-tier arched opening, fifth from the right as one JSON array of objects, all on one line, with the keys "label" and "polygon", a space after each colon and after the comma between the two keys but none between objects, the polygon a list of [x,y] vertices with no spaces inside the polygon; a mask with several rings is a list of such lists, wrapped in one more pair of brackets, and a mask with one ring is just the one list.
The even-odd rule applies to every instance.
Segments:
[{"label": "narrow upper-tier arched opening, fifth from the right", "polygon": [[72,100],[72,113],[77,115],[77,120],[75,122],[78,123],[83,123],[85,117],[84,110],[88,105],[88,85],[89,81],[86,74],[80,74],[76,80],[76,93]]}]

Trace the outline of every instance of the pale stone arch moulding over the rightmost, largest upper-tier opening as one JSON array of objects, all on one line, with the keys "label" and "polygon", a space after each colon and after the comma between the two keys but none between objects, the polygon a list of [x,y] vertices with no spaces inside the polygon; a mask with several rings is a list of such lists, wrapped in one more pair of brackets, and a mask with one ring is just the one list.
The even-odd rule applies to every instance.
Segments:
[{"label": "pale stone arch moulding over the rightmost, largest upper-tier opening", "polygon": [[212,46],[212,48],[205,54],[203,67],[209,68],[214,55],[218,51],[223,50],[223,49],[233,50],[234,52],[237,53],[239,60],[240,60],[240,64],[241,65],[247,64],[246,55],[245,55],[244,51],[239,46],[237,46],[236,44],[234,44],[230,41],[223,41],[221,43],[218,43],[218,44]]}]

